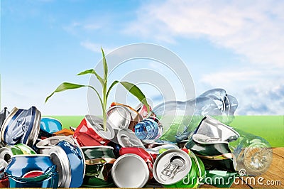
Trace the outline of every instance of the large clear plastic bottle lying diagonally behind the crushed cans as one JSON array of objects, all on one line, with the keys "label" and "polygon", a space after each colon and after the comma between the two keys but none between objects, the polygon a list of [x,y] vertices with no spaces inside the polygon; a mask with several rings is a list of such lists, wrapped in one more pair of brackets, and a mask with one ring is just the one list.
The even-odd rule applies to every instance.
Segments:
[{"label": "large clear plastic bottle lying diagonally behind the crushed cans", "polygon": [[186,102],[165,102],[154,107],[151,112],[160,126],[146,123],[152,118],[144,119],[135,126],[136,136],[139,139],[158,139],[160,142],[182,141],[190,137],[192,131],[206,115],[215,117],[224,124],[229,124],[234,119],[236,107],[238,107],[236,98],[226,95],[223,89],[209,90]]}]

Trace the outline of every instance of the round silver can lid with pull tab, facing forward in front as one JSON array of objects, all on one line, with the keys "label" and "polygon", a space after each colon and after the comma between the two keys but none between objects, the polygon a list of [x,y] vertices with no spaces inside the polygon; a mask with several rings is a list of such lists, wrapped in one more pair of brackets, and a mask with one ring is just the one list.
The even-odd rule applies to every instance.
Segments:
[{"label": "round silver can lid with pull tab, facing forward in front", "polygon": [[158,183],[171,185],[185,178],[190,173],[191,166],[191,158],[185,151],[170,149],[155,160],[153,175]]}]

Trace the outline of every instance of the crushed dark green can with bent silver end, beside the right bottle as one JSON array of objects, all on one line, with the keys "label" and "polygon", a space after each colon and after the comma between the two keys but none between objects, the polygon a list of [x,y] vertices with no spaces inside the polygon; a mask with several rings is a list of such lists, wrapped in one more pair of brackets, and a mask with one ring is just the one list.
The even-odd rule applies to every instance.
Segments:
[{"label": "crushed dark green can with bent silver end, beside the right bottle", "polygon": [[212,117],[204,117],[185,148],[200,157],[209,170],[236,171],[236,159],[229,148],[229,141],[239,138],[230,126]]}]

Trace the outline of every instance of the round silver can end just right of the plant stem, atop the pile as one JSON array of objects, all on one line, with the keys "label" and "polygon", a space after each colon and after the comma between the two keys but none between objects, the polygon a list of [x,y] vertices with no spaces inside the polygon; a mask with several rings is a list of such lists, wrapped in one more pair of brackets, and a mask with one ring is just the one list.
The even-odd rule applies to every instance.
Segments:
[{"label": "round silver can end just right of the plant stem, atop the pile", "polygon": [[131,113],[126,107],[116,105],[107,110],[108,120],[114,129],[127,129],[131,121]]}]

